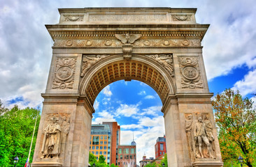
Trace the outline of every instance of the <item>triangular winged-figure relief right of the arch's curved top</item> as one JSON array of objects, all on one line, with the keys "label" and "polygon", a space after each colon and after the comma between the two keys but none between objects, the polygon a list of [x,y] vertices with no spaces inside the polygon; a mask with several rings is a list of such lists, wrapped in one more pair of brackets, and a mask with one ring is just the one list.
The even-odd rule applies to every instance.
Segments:
[{"label": "triangular winged-figure relief right of the arch's curved top", "polygon": [[153,60],[160,63],[162,66],[164,66],[166,68],[166,70],[169,71],[169,74],[171,74],[171,77],[174,77],[172,54],[150,54],[150,55],[145,55],[145,56],[152,58]]}]

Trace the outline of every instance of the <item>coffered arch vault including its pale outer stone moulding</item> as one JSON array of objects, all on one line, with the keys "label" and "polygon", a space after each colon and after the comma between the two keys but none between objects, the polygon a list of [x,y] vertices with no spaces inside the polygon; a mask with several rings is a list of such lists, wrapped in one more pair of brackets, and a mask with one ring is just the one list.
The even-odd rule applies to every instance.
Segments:
[{"label": "coffered arch vault including its pale outer stone moulding", "polygon": [[[84,55],[86,56],[86,55]],[[156,61],[144,55],[133,55],[131,61],[124,60],[122,54],[111,55],[82,72],[80,95],[87,95],[91,104],[99,92],[114,81],[131,79],[142,81],[153,88],[164,104],[166,97],[175,93],[174,77]]]}]

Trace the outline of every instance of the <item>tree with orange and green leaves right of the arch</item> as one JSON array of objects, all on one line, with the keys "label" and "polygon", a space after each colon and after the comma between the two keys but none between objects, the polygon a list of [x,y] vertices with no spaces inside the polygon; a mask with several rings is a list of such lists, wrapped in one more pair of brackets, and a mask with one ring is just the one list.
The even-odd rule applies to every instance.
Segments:
[{"label": "tree with orange and green leaves right of the arch", "polygon": [[239,91],[227,89],[213,100],[215,121],[222,160],[225,164],[241,155],[244,164],[253,166],[256,157],[256,113],[253,102],[243,98]]}]

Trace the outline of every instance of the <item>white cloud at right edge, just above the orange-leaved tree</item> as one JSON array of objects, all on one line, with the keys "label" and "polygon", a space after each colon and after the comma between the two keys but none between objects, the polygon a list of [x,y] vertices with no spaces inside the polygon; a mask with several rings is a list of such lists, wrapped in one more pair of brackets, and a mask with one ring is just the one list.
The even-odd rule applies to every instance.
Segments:
[{"label": "white cloud at right edge, just above the orange-leaved tree", "polygon": [[234,84],[232,89],[239,90],[240,94],[245,96],[250,93],[256,93],[256,70],[248,72],[246,76]]}]

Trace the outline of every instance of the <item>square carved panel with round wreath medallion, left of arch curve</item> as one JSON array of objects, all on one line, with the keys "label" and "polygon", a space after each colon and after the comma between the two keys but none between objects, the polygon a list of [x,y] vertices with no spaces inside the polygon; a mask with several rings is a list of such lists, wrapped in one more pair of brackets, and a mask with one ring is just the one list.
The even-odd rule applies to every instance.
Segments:
[{"label": "square carved panel with round wreath medallion, left of arch curve", "polygon": [[76,58],[57,57],[52,89],[73,89]]}]

